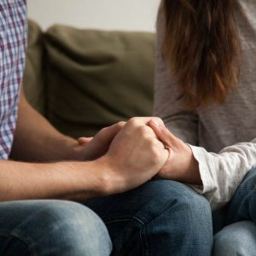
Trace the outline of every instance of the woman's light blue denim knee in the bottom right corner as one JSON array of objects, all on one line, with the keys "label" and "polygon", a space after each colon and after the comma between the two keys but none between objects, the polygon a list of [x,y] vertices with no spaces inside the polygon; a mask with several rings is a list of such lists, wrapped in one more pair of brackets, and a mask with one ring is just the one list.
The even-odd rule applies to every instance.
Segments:
[{"label": "woman's light blue denim knee in the bottom right corner", "polygon": [[256,226],[252,221],[230,224],[214,237],[213,254],[218,256],[254,255]]}]

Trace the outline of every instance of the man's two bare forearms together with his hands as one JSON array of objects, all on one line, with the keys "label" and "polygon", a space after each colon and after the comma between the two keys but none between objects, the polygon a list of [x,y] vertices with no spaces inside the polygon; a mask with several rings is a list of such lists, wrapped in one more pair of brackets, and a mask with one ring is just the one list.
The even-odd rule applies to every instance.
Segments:
[{"label": "man's two bare forearms together with his hands", "polygon": [[154,177],[169,155],[149,120],[112,125],[82,144],[56,131],[21,91],[13,160],[0,160],[0,201],[84,201],[136,188]]}]

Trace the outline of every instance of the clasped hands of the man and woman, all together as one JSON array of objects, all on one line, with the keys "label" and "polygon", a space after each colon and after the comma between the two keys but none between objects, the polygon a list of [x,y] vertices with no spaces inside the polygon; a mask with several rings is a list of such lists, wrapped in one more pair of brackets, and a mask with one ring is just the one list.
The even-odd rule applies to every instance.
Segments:
[{"label": "clasped hands of the man and woman, all together", "polygon": [[104,161],[125,188],[151,178],[201,183],[191,148],[159,118],[132,118],[103,128],[95,137],[80,137],[78,142],[84,160]]}]

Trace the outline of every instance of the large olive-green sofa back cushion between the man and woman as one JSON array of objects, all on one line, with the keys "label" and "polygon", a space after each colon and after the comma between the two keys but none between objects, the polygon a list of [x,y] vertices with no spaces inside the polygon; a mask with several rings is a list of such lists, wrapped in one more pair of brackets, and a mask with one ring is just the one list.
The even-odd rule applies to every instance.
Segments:
[{"label": "large olive-green sofa back cushion between the man and woman", "polygon": [[152,115],[154,34],[52,26],[47,49],[47,117],[72,137]]}]

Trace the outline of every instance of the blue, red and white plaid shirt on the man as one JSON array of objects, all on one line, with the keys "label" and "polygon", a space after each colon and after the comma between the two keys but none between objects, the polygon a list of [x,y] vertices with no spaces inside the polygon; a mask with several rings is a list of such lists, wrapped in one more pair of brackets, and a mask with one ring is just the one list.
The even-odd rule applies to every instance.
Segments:
[{"label": "blue, red and white plaid shirt on the man", "polygon": [[26,55],[26,0],[0,1],[0,160],[12,147]]}]

